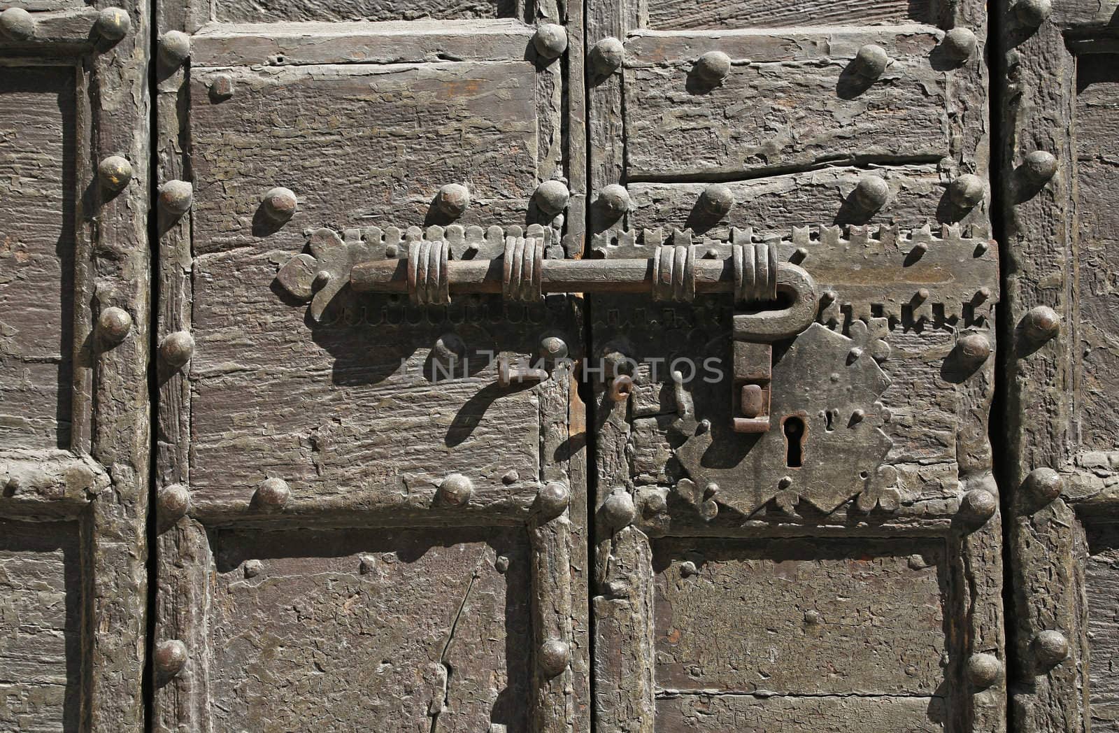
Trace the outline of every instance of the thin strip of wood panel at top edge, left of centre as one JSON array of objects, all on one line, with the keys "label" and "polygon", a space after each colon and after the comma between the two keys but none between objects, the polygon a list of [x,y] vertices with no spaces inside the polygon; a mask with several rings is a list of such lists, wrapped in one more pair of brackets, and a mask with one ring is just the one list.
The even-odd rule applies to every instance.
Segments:
[{"label": "thin strip of wood panel at top edge, left of centre", "polygon": [[215,18],[223,22],[284,20],[466,20],[517,17],[518,0],[218,0]]}]

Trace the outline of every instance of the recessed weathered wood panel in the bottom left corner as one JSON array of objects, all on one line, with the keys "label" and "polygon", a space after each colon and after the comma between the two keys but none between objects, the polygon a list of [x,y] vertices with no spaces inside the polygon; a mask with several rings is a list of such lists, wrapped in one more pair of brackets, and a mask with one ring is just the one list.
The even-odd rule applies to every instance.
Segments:
[{"label": "recessed weathered wood panel in the bottom left corner", "polygon": [[77,524],[0,519],[0,730],[78,730],[81,565]]}]

